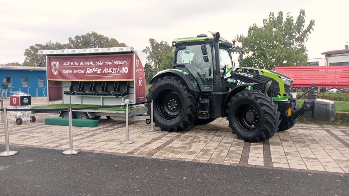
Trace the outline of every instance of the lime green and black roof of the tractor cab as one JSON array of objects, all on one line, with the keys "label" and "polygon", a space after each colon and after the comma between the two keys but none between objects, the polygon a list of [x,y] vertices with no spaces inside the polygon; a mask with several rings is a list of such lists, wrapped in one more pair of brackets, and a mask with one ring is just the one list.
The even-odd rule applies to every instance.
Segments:
[{"label": "lime green and black roof of the tractor cab", "polygon": [[[224,38],[220,38],[220,45],[225,47],[232,47],[233,44],[228,42]],[[172,41],[172,46],[181,46],[181,45],[193,45],[193,44],[202,44],[202,43],[213,43],[214,37],[207,37],[206,35],[198,35],[198,37],[184,37],[177,38]],[[174,44],[175,43],[175,44]]]}]

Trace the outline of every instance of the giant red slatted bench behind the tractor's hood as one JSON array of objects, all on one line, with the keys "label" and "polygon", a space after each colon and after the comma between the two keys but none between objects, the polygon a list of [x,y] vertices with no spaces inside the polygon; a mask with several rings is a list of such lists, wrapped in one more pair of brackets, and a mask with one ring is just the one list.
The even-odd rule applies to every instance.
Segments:
[{"label": "giant red slatted bench behind the tractor's hood", "polygon": [[275,71],[292,78],[294,88],[310,87],[312,83],[330,89],[349,88],[349,66],[275,67]]}]

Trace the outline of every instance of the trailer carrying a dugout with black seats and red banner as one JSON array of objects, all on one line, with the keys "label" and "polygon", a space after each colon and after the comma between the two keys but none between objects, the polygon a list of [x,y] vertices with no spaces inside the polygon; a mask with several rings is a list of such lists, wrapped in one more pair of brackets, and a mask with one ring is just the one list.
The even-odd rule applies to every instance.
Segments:
[{"label": "trailer carrying a dugout with black seats and red banner", "polygon": [[[125,120],[128,115],[130,119],[150,119],[145,115],[148,108],[144,104],[144,69],[131,47],[41,50],[38,53],[46,55],[48,105],[33,107],[38,109],[33,113],[59,113],[60,117],[68,118],[68,107],[74,105],[83,109],[72,107],[73,118],[107,116]],[[61,107],[50,105],[50,101],[57,100],[62,100]],[[126,102],[138,105],[130,106],[128,114],[120,107],[102,108]],[[102,107],[86,109],[98,106]],[[55,110],[46,110],[49,108]]]}]

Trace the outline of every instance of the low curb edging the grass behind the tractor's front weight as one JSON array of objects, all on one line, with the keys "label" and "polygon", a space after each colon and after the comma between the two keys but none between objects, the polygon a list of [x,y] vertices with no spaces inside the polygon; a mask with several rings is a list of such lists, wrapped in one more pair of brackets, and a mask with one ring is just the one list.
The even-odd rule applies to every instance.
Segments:
[{"label": "low curb edging the grass behind the tractor's front weight", "polygon": [[313,120],[310,118],[303,118],[301,116],[299,117],[298,122],[319,125],[349,126],[349,112],[336,112],[336,118],[333,121]]}]

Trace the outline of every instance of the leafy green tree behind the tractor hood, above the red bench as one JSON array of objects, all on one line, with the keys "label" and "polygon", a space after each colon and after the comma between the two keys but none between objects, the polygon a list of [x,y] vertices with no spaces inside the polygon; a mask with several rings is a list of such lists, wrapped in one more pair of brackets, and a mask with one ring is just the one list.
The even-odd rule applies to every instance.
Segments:
[{"label": "leafy green tree behind the tractor hood, above the red bench", "polygon": [[308,55],[305,42],[313,31],[314,20],[305,28],[305,11],[301,9],[296,21],[287,13],[285,21],[282,11],[274,16],[270,12],[268,19],[263,19],[263,26],[255,23],[248,28],[247,37],[237,36],[241,43],[238,50],[247,53],[244,67],[273,69],[275,66],[305,66]]}]

